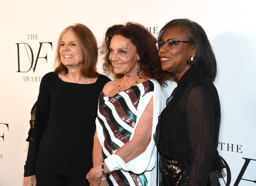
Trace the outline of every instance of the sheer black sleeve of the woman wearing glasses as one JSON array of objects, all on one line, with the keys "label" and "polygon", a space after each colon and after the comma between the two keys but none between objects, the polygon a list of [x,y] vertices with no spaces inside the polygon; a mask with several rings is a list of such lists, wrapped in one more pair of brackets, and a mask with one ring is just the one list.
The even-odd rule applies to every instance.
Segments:
[{"label": "sheer black sleeve of the woman wearing glasses", "polygon": [[186,126],[189,137],[189,165],[183,175],[182,186],[207,185],[209,173],[215,163],[215,99],[205,85],[189,90],[186,106]]}]

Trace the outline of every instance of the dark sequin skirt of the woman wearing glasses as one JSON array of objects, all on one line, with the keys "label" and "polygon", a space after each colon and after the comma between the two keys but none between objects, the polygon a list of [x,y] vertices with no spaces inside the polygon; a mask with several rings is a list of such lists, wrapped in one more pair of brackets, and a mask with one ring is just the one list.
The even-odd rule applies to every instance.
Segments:
[{"label": "dark sequin skirt of the woman wearing glasses", "polygon": [[[160,186],[180,186],[186,168],[179,166],[176,161],[160,155],[159,170]],[[212,171],[209,174],[207,186],[221,186],[217,171]]]}]

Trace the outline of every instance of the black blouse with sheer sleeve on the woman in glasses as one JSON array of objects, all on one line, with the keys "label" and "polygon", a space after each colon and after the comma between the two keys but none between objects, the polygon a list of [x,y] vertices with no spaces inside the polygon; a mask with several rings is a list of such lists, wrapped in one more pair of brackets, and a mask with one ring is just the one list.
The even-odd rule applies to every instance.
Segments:
[{"label": "black blouse with sheer sleeve on the woman in glasses", "polygon": [[220,102],[212,81],[192,67],[159,117],[157,149],[186,167],[181,185],[207,185],[209,173],[224,168],[217,151]]}]

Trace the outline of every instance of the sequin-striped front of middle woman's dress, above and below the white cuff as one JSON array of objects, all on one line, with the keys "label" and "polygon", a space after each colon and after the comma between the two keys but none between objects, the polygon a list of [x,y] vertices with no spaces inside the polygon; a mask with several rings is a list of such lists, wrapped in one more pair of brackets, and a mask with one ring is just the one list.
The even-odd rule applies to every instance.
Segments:
[{"label": "sequin-striped front of middle woman's dress, above and below the white cuff", "polygon": [[[102,147],[103,157],[106,158],[130,140],[134,133],[137,119],[137,108],[140,98],[154,90],[153,82],[145,81],[133,86],[113,97],[99,98],[98,119],[105,137]],[[147,186],[145,174],[135,174],[127,171],[113,171],[109,175],[109,185]]]}]

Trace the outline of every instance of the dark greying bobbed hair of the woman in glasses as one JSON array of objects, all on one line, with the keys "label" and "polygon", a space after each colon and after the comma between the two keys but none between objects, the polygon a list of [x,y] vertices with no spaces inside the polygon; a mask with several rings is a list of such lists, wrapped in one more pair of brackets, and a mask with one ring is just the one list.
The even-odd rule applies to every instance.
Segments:
[{"label": "dark greying bobbed hair of the woman in glasses", "polygon": [[189,19],[174,19],[160,30],[158,41],[161,41],[164,33],[170,29],[183,29],[186,33],[184,35],[189,41],[189,44],[195,47],[194,60],[189,64],[192,68],[196,68],[204,72],[212,81],[214,81],[217,73],[217,64],[215,55],[212,51],[211,44],[204,29],[196,22]]}]

